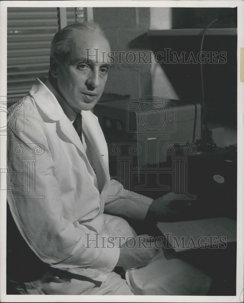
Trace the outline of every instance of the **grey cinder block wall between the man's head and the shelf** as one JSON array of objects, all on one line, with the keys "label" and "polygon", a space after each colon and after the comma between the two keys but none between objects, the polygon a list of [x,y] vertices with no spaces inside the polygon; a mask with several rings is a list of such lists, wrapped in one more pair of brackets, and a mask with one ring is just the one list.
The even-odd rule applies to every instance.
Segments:
[{"label": "grey cinder block wall between the man's head and the shelf", "polygon": [[[150,27],[150,8],[97,7],[93,8],[94,21],[104,29],[113,52],[148,52],[147,30]],[[116,57],[117,58],[117,57]],[[149,61],[147,56],[146,61]],[[132,61],[132,56],[129,56]],[[114,64],[108,75],[106,93],[142,98],[150,95],[151,64]]]}]

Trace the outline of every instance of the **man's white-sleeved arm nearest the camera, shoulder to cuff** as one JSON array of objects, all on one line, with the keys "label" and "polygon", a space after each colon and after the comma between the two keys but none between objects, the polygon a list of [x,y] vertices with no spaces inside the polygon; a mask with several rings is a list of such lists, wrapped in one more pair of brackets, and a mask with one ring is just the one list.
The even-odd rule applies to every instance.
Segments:
[{"label": "man's white-sleeved arm nearest the camera, shoulder to cuff", "polygon": [[[18,132],[23,123],[25,131]],[[120,249],[116,245],[114,248],[95,248],[97,242],[101,243],[95,231],[64,218],[46,131],[46,126],[32,117],[18,117],[15,121],[12,135],[19,138],[9,137],[8,140],[7,199],[12,216],[22,237],[43,262],[54,268],[105,281],[104,274],[112,271],[117,264]],[[33,158],[34,146],[39,150],[33,167],[28,159]],[[11,172],[16,168],[22,172]],[[35,172],[35,179],[29,175],[31,171]],[[11,189],[12,186],[19,190]],[[44,198],[33,198],[32,188]],[[86,248],[85,234],[89,234],[89,240],[98,239],[89,241],[90,248]]]}]

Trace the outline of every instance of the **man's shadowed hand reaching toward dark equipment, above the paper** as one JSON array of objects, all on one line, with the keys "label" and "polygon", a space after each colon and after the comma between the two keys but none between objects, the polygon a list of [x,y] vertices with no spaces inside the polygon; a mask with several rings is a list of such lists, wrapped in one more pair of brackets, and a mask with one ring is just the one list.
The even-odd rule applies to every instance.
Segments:
[{"label": "man's shadowed hand reaching toward dark equipment, above the paper", "polygon": [[148,210],[153,215],[157,216],[179,215],[180,213],[186,211],[190,205],[189,200],[186,200],[186,198],[187,195],[185,194],[181,194],[180,196],[173,194],[170,200],[166,200],[163,197],[160,197],[153,200]]}]

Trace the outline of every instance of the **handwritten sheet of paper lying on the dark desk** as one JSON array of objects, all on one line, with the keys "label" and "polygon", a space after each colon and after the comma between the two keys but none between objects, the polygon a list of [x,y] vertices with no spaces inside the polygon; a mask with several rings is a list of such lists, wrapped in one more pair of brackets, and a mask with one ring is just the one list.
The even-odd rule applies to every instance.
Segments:
[{"label": "handwritten sheet of paper lying on the dark desk", "polygon": [[236,241],[236,221],[212,218],[194,221],[157,223],[175,251],[192,248],[225,248],[227,242]]}]

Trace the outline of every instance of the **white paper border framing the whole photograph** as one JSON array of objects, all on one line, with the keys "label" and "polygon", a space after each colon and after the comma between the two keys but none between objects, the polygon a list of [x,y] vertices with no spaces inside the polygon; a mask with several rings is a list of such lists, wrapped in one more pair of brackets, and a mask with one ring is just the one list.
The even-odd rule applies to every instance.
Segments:
[{"label": "white paper border framing the whole photograph", "polygon": [[[7,96],[7,7],[236,7],[237,6],[237,280],[236,296],[85,296],[78,295],[6,295],[6,142],[7,136],[0,134],[0,288],[2,302],[243,302],[243,152],[244,152],[244,82],[241,82],[241,69],[244,70],[244,59],[241,65],[241,49],[244,54],[244,2],[242,0],[217,0],[217,1],[1,1],[0,3],[0,99]],[[243,79],[242,79],[243,80]],[[0,100],[1,101],[1,100]],[[6,113],[0,113],[1,127],[7,124]],[[228,261],[228,260],[227,260]],[[224,265],[223,265],[224,266]]]}]

